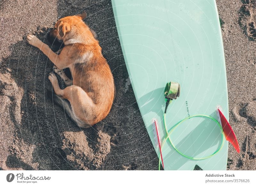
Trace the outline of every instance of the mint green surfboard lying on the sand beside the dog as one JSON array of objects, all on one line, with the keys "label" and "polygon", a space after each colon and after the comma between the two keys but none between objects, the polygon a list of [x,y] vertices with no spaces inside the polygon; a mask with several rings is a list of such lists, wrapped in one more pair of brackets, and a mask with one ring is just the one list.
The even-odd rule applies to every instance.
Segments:
[{"label": "mint green surfboard lying on the sand beside the dog", "polygon": [[[155,143],[152,119],[159,136],[166,136],[163,122],[164,88],[180,83],[180,97],[166,113],[170,130],[184,118],[204,114],[218,120],[220,105],[228,119],[228,93],[220,21],[214,0],[112,0],[116,27],[140,113]],[[176,148],[201,159],[222,143],[219,126],[208,118],[190,118],[170,136]],[[212,157],[188,159],[166,141],[162,148],[164,170],[226,170],[228,142]]]}]

